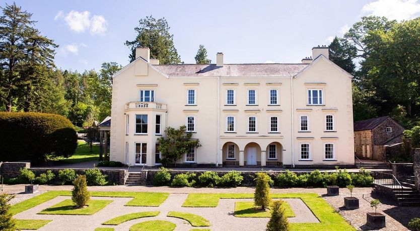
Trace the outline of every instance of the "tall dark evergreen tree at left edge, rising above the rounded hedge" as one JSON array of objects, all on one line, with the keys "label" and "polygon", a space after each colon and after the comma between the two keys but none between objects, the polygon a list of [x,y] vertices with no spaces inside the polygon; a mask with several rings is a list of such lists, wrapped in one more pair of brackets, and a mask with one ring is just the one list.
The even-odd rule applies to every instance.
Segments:
[{"label": "tall dark evergreen tree at left edge, rising above the rounded hedge", "polygon": [[32,14],[22,11],[15,3],[1,9],[0,66],[4,78],[0,80],[0,96],[8,111],[18,97],[23,97],[27,101],[23,109],[28,111],[32,102],[24,94],[39,86],[45,67],[54,66],[57,45],[42,36],[33,27]]}]

